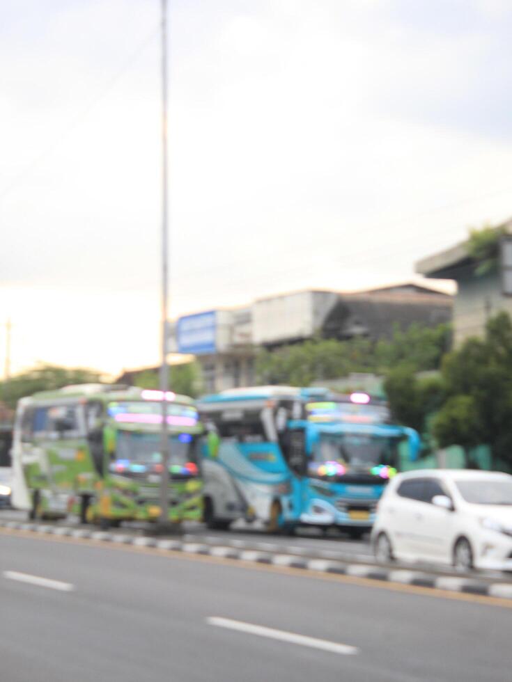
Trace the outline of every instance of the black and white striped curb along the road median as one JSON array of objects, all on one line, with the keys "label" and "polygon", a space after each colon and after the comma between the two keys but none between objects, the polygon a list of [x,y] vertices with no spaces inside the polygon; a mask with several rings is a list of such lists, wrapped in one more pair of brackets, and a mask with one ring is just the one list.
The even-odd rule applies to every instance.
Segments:
[{"label": "black and white striped curb along the road median", "polygon": [[[234,546],[212,545],[183,539],[158,539],[141,535],[129,535],[119,532],[88,530],[85,528],[69,528],[56,525],[41,525],[39,523],[20,523],[17,521],[0,521],[0,528],[11,530],[26,530],[40,534],[73,537],[77,539],[91,539],[113,544],[126,544],[136,547],[149,547],[184,554],[208,555],[223,559],[233,559],[256,564],[270,564],[293,569],[318,571],[320,573],[334,573],[341,576],[366,578],[368,580],[382,580],[447,590],[449,592],[465,592],[481,596],[512,599],[511,582],[488,582],[463,576],[438,576],[434,573],[422,571],[395,569],[378,564],[357,564],[311,557],[301,557],[275,551],[259,551],[236,548]],[[270,546],[269,546],[270,548]],[[279,548],[278,548],[279,549]]]}]

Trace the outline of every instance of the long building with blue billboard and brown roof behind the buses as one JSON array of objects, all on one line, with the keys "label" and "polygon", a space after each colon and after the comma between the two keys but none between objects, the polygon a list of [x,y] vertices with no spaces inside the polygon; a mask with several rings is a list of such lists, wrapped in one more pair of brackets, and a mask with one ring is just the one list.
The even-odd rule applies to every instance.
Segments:
[{"label": "long building with blue billboard and brown roof behind the buses", "polygon": [[257,299],[249,306],[207,310],[169,324],[169,352],[196,356],[206,392],[251,386],[259,348],[316,336],[389,338],[398,324],[451,320],[451,296],[414,284],[358,293],[308,290]]}]

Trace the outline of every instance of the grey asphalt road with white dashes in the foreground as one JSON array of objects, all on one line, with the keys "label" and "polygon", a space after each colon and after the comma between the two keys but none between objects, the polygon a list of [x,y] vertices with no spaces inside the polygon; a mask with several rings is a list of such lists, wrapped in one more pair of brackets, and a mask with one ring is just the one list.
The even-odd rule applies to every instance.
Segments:
[{"label": "grey asphalt road with white dashes in the foreground", "polygon": [[0,534],[0,596],[5,682],[511,679],[511,609],[469,595]]}]

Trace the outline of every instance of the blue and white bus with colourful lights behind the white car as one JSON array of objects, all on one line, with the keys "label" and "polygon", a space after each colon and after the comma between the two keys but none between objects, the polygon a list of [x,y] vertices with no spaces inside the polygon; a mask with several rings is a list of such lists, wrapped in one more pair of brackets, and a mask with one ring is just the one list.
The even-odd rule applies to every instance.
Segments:
[{"label": "blue and white bus with colourful lights behind the white car", "polygon": [[363,392],[263,386],[198,406],[208,528],[245,518],[270,532],[336,526],[361,537],[401,461],[419,455],[417,431],[391,424],[385,401]]}]

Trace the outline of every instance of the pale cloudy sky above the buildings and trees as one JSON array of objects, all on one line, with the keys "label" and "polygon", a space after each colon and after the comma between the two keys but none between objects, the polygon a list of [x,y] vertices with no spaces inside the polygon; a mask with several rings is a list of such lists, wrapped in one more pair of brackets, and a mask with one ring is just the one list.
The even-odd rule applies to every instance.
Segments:
[{"label": "pale cloudy sky above the buildings and trees", "polygon": [[[0,3],[0,367],[8,318],[13,372],[158,361],[159,21]],[[511,29],[509,0],[169,0],[169,315],[419,280],[509,219]]]}]

